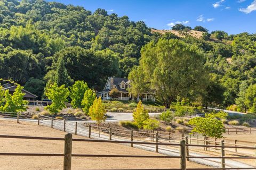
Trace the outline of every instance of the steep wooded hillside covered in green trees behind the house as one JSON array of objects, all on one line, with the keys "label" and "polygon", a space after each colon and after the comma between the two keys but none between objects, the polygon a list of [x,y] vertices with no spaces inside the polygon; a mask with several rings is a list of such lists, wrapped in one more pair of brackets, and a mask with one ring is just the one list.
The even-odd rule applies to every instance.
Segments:
[{"label": "steep wooded hillside covered in green trees behind the house", "polygon": [[[91,12],[43,0],[3,0],[0,10],[0,78],[20,83],[39,99],[58,73],[65,73],[66,86],[84,80],[95,90],[108,77],[127,77],[139,64],[143,46],[159,39],[179,39],[204,55],[211,80],[208,101],[200,101],[204,105],[244,107],[237,103],[239,92],[256,83],[255,34],[228,35],[201,26],[156,30],[100,8]],[[242,82],[245,89],[239,87]]]}]

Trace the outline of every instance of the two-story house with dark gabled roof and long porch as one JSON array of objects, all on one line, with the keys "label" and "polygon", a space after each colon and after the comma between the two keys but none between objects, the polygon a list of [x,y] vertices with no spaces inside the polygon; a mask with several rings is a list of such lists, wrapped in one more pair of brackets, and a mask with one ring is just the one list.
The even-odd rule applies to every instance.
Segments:
[{"label": "two-story house with dark gabled roof and long porch", "polygon": [[131,81],[127,78],[109,77],[104,89],[100,92],[97,92],[97,97],[101,96],[102,100],[109,100],[109,92],[111,89],[116,88],[120,93],[119,97],[117,98],[118,100],[155,101],[155,98],[147,93],[138,94],[136,96],[129,94],[127,89],[131,87],[130,83]]}]

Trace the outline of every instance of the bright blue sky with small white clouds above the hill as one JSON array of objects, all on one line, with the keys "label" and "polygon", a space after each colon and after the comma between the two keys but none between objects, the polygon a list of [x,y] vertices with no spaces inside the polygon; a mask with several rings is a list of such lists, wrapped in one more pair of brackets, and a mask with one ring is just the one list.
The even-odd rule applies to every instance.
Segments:
[{"label": "bright blue sky with small white clouds above the hill", "polygon": [[[49,0],[53,1],[53,0]],[[54,0],[83,6],[94,12],[127,15],[132,21],[144,21],[148,27],[171,29],[175,23],[190,27],[202,25],[208,30],[229,34],[256,33],[256,0]]]}]

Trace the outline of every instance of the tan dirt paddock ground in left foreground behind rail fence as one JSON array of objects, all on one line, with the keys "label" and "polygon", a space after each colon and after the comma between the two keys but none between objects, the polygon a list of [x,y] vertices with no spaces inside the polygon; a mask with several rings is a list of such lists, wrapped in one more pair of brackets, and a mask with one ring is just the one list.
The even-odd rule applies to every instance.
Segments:
[{"label": "tan dirt paddock ground in left foreground behind rail fence", "polygon": [[[60,137],[66,134],[58,130],[38,126],[36,123],[0,120],[0,134],[28,135],[36,137]],[[73,135],[73,138],[83,138]],[[0,152],[62,154],[63,141],[0,138]],[[73,142],[73,154],[109,155],[161,155],[150,151],[114,143]],[[0,156],[0,169],[62,169],[63,157]],[[190,168],[206,166],[187,162]],[[172,158],[95,158],[73,157],[72,169],[131,169],[131,168],[179,168],[179,159]]]}]

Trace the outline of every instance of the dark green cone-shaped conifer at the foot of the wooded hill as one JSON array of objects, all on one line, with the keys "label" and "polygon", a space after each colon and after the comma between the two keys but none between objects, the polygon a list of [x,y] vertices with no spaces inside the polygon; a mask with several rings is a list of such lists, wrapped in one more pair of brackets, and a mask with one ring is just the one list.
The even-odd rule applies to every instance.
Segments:
[{"label": "dark green cone-shaped conifer at the foot of the wooded hill", "polygon": [[57,68],[55,70],[54,82],[57,83],[58,86],[65,84],[65,86],[68,87],[72,81],[73,80],[68,75],[63,57],[59,57],[57,61]]}]

